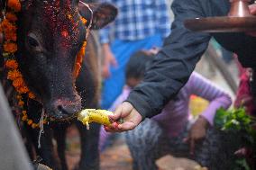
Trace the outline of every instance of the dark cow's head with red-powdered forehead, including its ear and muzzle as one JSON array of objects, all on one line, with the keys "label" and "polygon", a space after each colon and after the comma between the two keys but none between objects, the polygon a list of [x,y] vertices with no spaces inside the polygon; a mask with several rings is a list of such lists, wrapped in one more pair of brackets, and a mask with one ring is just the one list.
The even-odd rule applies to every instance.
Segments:
[{"label": "dark cow's head with red-powdered forehead, including its ear and muzzle", "polygon": [[81,109],[73,70],[87,26],[102,28],[117,10],[110,4],[88,8],[78,0],[23,0],[22,6],[16,55],[20,71],[51,117],[69,118]]}]

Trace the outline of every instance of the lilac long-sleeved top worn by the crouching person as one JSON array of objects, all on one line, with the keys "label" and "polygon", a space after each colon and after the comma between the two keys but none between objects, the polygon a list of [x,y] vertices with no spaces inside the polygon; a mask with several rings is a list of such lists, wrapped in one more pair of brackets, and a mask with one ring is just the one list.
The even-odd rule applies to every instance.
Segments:
[{"label": "lilac long-sleeved top worn by the crouching person", "polygon": [[[130,92],[131,89],[128,86],[124,86],[123,93],[119,95],[109,110],[114,111],[118,104],[126,100]],[[221,107],[228,109],[232,103],[231,97],[224,93],[223,90],[213,85],[205,77],[193,72],[187,84],[177,94],[177,97],[169,101],[162,112],[152,118],[160,123],[169,137],[177,136],[186,127],[189,116],[188,104],[192,94],[209,101],[208,107],[201,113],[201,116],[204,116],[211,125],[214,123],[216,110]]]}]

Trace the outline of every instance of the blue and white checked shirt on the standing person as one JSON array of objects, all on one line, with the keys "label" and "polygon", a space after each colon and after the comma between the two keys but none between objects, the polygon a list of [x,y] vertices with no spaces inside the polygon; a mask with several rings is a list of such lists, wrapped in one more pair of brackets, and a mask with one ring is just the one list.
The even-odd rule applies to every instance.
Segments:
[{"label": "blue and white checked shirt on the standing person", "polygon": [[154,34],[162,38],[169,35],[170,18],[166,0],[101,0],[114,4],[119,13],[114,24],[99,31],[100,42],[110,41],[111,32],[114,39],[142,40]]}]

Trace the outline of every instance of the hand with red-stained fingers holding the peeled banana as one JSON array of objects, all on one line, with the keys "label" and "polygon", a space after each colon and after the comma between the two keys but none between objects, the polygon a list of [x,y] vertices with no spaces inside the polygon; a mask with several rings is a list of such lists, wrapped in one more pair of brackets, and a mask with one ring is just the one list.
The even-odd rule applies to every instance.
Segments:
[{"label": "hand with red-stained fingers holding the peeled banana", "polygon": [[[105,127],[105,130],[109,132],[133,130],[142,121],[142,115],[128,102],[124,102],[117,106],[114,114],[109,117],[115,121],[111,127]],[[116,123],[120,119],[123,119],[123,123]]]}]

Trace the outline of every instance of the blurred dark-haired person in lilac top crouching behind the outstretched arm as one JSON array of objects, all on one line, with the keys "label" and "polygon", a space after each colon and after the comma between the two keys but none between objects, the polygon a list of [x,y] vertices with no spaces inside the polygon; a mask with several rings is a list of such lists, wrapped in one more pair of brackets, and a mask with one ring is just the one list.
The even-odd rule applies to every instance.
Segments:
[{"label": "blurred dark-haired person in lilac top crouching behind the outstretched arm", "polygon": [[[119,95],[110,108],[111,111],[118,104],[123,103],[133,87],[142,81],[145,69],[151,64],[155,51],[155,49],[138,51],[130,58],[125,70],[126,85],[123,87],[123,93]],[[197,95],[209,102],[206,110],[201,112],[197,121],[189,119],[191,116],[188,104],[191,95]],[[183,157],[189,157],[189,153],[192,155],[197,153],[195,157],[201,157],[202,153],[198,151],[200,149],[197,151],[195,149],[196,146],[200,148],[204,144],[200,145],[198,141],[204,141],[205,138],[213,140],[212,132],[208,131],[208,135],[206,133],[208,129],[213,127],[215,112],[221,107],[229,108],[231,103],[229,94],[226,94],[203,76],[193,72],[187,84],[181,88],[174,99],[165,105],[159,115],[146,119],[134,130],[126,133],[126,141],[133,156],[133,169],[155,170],[157,169],[155,166],[156,159],[168,153]],[[105,141],[110,134],[102,131],[101,142]],[[188,145],[186,143],[188,140],[193,142]],[[214,148],[215,146],[207,145],[205,147],[207,150],[211,150],[211,147]],[[195,157],[192,156],[192,158]]]}]

